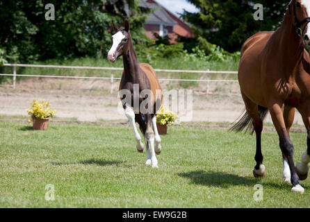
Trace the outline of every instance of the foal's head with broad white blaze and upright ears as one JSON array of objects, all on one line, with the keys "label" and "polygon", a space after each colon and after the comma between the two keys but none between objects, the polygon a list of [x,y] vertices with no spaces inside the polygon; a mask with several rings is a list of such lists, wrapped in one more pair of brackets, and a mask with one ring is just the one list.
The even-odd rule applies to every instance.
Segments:
[{"label": "foal's head with broad white blaze and upright ears", "polygon": [[124,27],[118,28],[112,21],[112,28],[116,33],[111,37],[112,47],[108,51],[108,60],[115,62],[118,57],[129,51],[129,40],[131,38],[129,33],[130,25],[128,20],[125,20]]}]

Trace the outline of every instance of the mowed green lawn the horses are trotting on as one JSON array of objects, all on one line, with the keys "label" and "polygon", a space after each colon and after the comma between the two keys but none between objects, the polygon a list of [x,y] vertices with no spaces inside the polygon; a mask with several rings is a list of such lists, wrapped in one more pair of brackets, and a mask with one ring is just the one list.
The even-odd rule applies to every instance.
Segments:
[{"label": "mowed green lawn the horses are trotting on", "polygon": [[[0,207],[310,207],[282,180],[282,154],[274,132],[263,133],[265,179],[252,176],[255,138],[188,126],[161,136],[158,169],[145,166],[129,126],[0,122]],[[291,133],[295,162],[307,136]],[[263,200],[253,198],[263,186]],[[54,185],[55,200],[44,196]]]}]

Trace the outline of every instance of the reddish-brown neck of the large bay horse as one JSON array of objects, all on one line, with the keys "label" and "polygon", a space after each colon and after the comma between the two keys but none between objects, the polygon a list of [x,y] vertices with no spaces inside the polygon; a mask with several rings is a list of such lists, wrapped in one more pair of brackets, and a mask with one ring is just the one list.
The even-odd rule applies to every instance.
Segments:
[{"label": "reddish-brown neck of the large bay horse", "polygon": [[299,37],[296,33],[289,10],[286,11],[282,26],[277,31],[275,42],[279,44],[279,62],[284,62],[282,64],[286,66],[286,70],[293,71],[296,65],[301,65],[304,53],[302,37]]}]

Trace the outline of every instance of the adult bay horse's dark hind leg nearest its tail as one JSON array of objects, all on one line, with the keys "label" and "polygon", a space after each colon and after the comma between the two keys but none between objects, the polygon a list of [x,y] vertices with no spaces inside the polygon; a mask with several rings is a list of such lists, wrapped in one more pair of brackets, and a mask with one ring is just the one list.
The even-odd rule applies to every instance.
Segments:
[{"label": "adult bay horse's dark hind leg nearest its tail", "polygon": [[263,165],[263,154],[261,153],[261,131],[263,130],[263,119],[261,119],[259,113],[259,106],[253,103],[244,94],[242,94],[242,96],[243,101],[245,102],[245,108],[247,110],[247,114],[253,120],[253,127],[256,135],[256,154],[254,157],[256,165],[253,169],[253,175],[256,178],[264,178],[266,177],[266,168]]}]

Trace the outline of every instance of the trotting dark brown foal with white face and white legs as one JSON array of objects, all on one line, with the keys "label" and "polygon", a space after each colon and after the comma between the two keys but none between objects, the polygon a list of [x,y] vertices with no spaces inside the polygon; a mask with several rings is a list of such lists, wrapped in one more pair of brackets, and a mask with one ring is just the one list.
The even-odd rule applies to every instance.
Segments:
[{"label": "trotting dark brown foal with white face and white legs", "polygon": [[[145,164],[158,167],[156,154],[161,153],[161,137],[156,128],[156,111],[161,107],[162,90],[154,69],[145,63],[138,64],[136,51],[130,35],[130,24],[124,22],[124,27],[118,28],[112,22],[112,47],[108,52],[108,60],[122,56],[124,71],[120,80],[120,98],[126,117],[135,133],[137,150],[142,153],[144,146],[136,128],[136,121],[145,137],[147,146],[147,162]],[[154,147],[155,141],[155,147]]]}]

